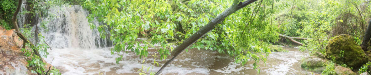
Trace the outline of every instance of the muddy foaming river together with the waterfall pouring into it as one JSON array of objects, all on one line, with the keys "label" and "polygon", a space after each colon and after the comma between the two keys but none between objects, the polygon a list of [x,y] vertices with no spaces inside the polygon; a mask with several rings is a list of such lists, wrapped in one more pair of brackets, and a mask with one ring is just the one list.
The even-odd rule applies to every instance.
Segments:
[{"label": "muddy foaming river together with the waterfall pouring into it", "polygon": [[[24,3],[22,5],[24,6]],[[89,23],[88,11],[81,6],[62,6],[50,8],[54,17],[43,17],[49,21],[46,27],[49,31],[39,32],[45,36],[45,41],[52,50],[45,61],[60,69],[62,75],[138,75],[142,67],[156,72],[167,60],[154,58],[157,48],[150,48],[148,58],[141,59],[133,52],[119,53],[122,61],[116,64],[118,53],[111,55],[112,43],[102,39],[96,29],[90,29],[89,24],[100,25],[99,22]],[[24,15],[19,15],[19,24],[23,24]],[[38,24],[40,26],[40,23]],[[33,27],[35,30],[35,27]],[[32,40],[32,39],[31,39]],[[301,68],[301,58],[308,57],[308,52],[298,51],[298,48],[283,47],[289,52],[272,52],[267,56],[266,64],[260,61],[260,75],[308,75],[310,71]],[[256,75],[253,61],[244,66],[234,63],[234,58],[211,50],[188,49],[178,56],[162,71],[164,75]],[[156,54],[158,55],[158,54]],[[152,65],[153,60],[159,61],[159,66]],[[142,61],[145,60],[144,63]],[[146,71],[147,69],[143,69]]]}]

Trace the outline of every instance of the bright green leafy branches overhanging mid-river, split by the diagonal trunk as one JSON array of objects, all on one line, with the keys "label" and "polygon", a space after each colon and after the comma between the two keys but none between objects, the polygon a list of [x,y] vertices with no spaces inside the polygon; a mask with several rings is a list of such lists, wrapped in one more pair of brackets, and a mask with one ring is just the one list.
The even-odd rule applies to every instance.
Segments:
[{"label": "bright green leafy branches overhanging mid-river, split by the diagonal trunk", "polygon": [[[183,41],[229,8],[232,1],[220,0],[86,0],[82,6],[90,11],[89,21],[97,19],[103,25],[92,25],[100,32],[110,33],[115,46],[112,54],[135,52],[147,57],[148,47],[158,46],[160,60],[173,50],[171,41]],[[190,48],[215,50],[235,57],[243,65],[266,61],[270,53],[267,42],[278,39],[278,27],[272,21],[276,9],[272,0],[261,0],[242,8],[219,23]],[[102,37],[106,37],[101,34]],[[139,37],[151,41],[138,40]],[[187,51],[187,50],[186,50]],[[116,63],[121,60],[116,58]]]}]

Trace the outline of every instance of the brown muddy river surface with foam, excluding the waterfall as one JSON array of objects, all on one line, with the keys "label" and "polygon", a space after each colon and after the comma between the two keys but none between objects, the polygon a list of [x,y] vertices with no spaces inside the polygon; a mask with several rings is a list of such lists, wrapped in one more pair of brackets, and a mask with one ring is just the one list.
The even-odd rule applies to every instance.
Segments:
[{"label": "brown muddy river surface with foam, excluding the waterfall", "polygon": [[[259,62],[259,75],[309,75],[312,72],[301,68],[301,58],[308,57],[307,52],[298,51],[298,48],[283,47],[289,52],[272,52],[267,57],[266,64]],[[163,75],[257,75],[253,69],[253,61],[245,66],[234,63],[234,58],[221,55],[216,51],[188,49],[178,56],[162,71]],[[149,71],[157,72],[166,61],[160,61],[159,67],[153,66],[156,50],[149,50],[148,58],[140,59],[135,53],[123,54],[122,61],[116,64],[117,55],[111,55],[109,48],[96,50],[53,49],[48,58],[62,75],[138,75],[138,70],[144,67],[153,67]],[[144,69],[147,70],[147,69]]]}]

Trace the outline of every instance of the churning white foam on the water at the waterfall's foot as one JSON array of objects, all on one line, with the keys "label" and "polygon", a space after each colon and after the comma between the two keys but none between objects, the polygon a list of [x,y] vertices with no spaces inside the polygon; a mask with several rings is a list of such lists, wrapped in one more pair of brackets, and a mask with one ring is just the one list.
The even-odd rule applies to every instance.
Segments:
[{"label": "churning white foam on the water at the waterfall's foot", "polygon": [[[110,68],[118,66],[115,64],[115,55],[110,51],[102,49],[80,50],[73,48],[53,49],[48,51],[50,55],[45,61],[55,67],[68,70],[66,75],[98,74],[98,72],[111,71]],[[88,71],[93,69],[93,71]]]}]

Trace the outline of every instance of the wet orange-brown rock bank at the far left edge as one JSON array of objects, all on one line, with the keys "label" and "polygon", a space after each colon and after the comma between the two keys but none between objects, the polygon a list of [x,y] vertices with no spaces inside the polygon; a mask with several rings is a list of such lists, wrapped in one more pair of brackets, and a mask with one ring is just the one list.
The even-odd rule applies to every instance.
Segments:
[{"label": "wet orange-brown rock bank at the far left edge", "polygon": [[13,30],[0,26],[0,75],[32,75],[27,69],[27,57],[20,51],[23,44]]}]

